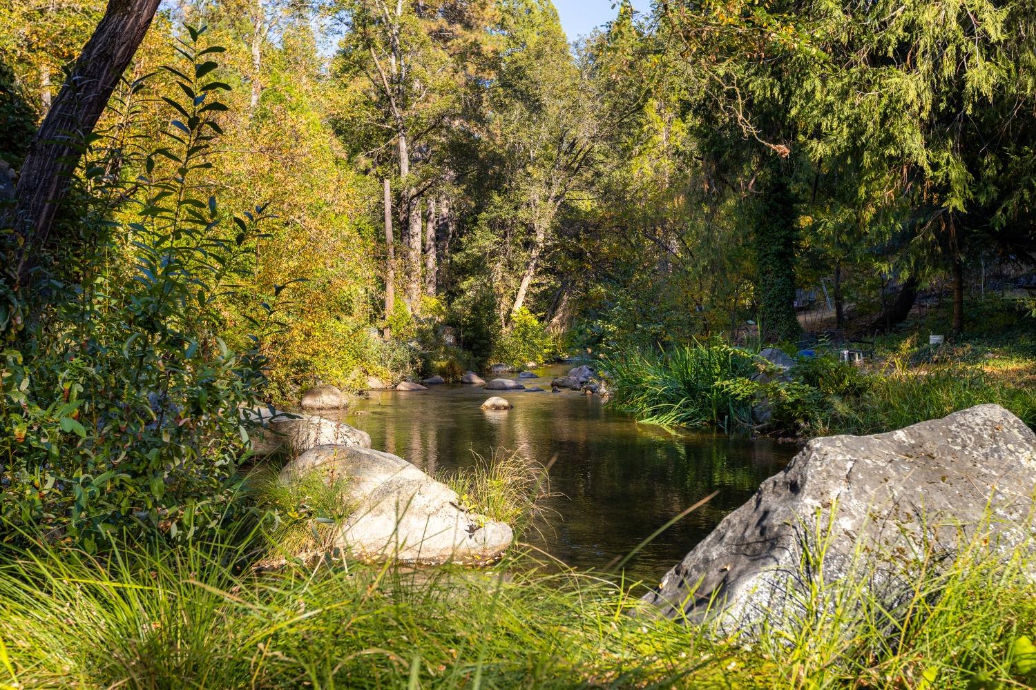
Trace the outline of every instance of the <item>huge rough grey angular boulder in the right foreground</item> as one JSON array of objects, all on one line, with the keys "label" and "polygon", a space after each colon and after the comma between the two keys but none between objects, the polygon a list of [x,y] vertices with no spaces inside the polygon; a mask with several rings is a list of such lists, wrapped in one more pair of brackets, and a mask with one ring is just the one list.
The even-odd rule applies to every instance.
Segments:
[{"label": "huge rough grey angular boulder in the right foreground", "polygon": [[749,632],[815,606],[806,601],[822,580],[865,582],[894,610],[922,562],[938,567],[978,538],[986,558],[1030,548],[1034,491],[1036,434],[995,404],[814,439],[644,599],[669,618]]}]

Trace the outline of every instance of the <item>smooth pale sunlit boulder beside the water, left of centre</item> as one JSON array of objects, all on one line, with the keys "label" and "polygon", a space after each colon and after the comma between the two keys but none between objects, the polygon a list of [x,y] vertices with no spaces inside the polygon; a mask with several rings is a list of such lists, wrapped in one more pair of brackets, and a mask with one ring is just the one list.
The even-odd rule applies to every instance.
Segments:
[{"label": "smooth pale sunlit boulder beside the water, left of centre", "polygon": [[463,509],[460,498],[406,460],[356,446],[318,446],[285,466],[284,481],[311,472],[346,478],[349,517],[330,548],[368,561],[480,564],[498,558],[514,533],[502,522]]}]

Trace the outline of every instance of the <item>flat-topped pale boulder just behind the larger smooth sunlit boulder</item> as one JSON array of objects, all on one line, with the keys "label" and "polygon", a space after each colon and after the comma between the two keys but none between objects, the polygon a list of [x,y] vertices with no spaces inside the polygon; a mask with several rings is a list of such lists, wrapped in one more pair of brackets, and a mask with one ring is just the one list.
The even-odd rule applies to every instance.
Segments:
[{"label": "flat-topped pale boulder just behind the larger smooth sunlit boulder", "polygon": [[329,443],[371,447],[371,436],[367,431],[323,417],[269,408],[249,410],[244,414],[256,424],[249,436],[257,456],[283,453],[294,457],[310,448]]}]

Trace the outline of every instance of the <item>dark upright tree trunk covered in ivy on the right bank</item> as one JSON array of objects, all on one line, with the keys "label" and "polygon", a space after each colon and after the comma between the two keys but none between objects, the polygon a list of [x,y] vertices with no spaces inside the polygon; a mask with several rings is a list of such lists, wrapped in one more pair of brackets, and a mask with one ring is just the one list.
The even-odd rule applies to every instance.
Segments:
[{"label": "dark upright tree trunk covered in ivy on the right bank", "polygon": [[770,342],[795,340],[802,327],[795,313],[795,261],[799,241],[795,199],[787,182],[776,171],[764,181],[756,207],[756,290],[760,302],[762,338]]}]

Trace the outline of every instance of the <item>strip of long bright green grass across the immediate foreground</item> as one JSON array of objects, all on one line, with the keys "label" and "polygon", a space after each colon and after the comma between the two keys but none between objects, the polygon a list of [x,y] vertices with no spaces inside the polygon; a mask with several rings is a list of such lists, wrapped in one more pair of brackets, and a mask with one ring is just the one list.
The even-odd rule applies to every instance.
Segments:
[{"label": "strip of long bright green grass across the immediate foreground", "polygon": [[811,582],[803,605],[774,613],[751,643],[633,614],[644,588],[527,553],[487,571],[324,562],[260,573],[247,567],[252,545],[120,542],[105,560],[54,544],[5,548],[0,686],[933,690],[1034,680],[1031,563],[990,559],[981,541],[922,569],[894,609],[868,597],[865,573]]}]

